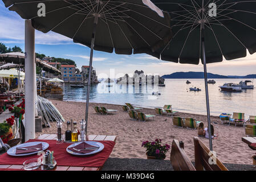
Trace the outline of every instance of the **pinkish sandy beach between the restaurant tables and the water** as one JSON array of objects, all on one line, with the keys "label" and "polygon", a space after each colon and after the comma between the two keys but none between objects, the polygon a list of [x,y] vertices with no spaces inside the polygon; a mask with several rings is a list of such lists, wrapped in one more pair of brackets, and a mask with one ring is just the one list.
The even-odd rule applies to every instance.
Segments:
[{"label": "pinkish sandy beach between the restaurant tables and the water", "polygon": [[[86,104],[83,102],[64,102],[51,100],[52,104],[63,115],[65,121],[78,121],[84,118]],[[118,110],[116,114],[101,115],[96,114],[94,106],[105,106],[107,109]],[[143,109],[146,114],[154,114],[153,109]],[[197,121],[204,122],[207,126],[206,115],[177,113],[178,117],[196,118]],[[213,140],[213,150],[217,152],[218,158],[223,163],[235,164],[252,164],[251,156],[255,151],[251,150],[247,144],[243,143],[241,138],[246,137],[243,127],[221,125],[219,117],[211,117],[214,133],[218,135]],[[51,123],[51,128],[43,128],[40,134],[55,134],[55,123]],[[80,126],[78,126],[80,128]],[[64,123],[63,131],[66,131],[66,123]],[[116,135],[116,145],[111,156],[113,158],[141,158],[147,159],[145,148],[141,147],[141,143],[145,140],[162,139],[165,144],[172,144],[173,139],[184,142],[184,149],[190,160],[194,161],[194,144],[193,137],[197,136],[197,130],[175,127],[172,118],[165,115],[156,115],[155,120],[150,119],[147,122],[132,121],[129,119],[128,112],[123,111],[120,105],[111,104],[95,104],[90,103],[88,115],[89,135]],[[209,146],[209,139],[200,138],[206,146]],[[170,159],[170,151],[166,154],[166,159]]]}]

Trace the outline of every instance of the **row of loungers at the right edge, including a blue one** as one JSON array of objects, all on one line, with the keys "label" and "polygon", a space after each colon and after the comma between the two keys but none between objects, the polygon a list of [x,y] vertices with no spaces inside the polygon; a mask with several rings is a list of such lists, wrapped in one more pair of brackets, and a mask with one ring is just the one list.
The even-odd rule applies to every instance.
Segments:
[{"label": "row of loungers at the right edge, including a blue one", "polygon": [[246,123],[251,123],[255,124],[256,123],[256,116],[255,115],[250,115],[249,119],[245,119],[245,113],[233,113],[232,114],[227,114],[227,113],[222,113],[220,115],[221,119],[221,124],[223,125],[224,123],[234,123],[235,126],[237,125],[242,125],[245,127]]}]

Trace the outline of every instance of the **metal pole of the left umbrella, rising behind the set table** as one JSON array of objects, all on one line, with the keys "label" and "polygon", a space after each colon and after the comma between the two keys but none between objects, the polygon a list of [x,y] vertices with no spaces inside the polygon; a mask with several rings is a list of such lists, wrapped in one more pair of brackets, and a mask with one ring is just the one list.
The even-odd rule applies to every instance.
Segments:
[{"label": "metal pole of the left umbrella, rising behind the set table", "polygon": [[[98,4],[99,5],[99,4]],[[87,96],[86,96],[86,136],[87,136],[87,125],[88,125],[88,108],[89,108],[89,97],[90,97],[90,87],[91,87],[91,72],[92,72],[92,56],[94,54],[94,42],[95,42],[95,32],[96,26],[98,22],[99,15],[95,14],[94,18],[94,27],[92,29],[92,40],[91,40],[91,53],[90,53],[90,69],[89,69],[89,77],[88,77],[88,86],[87,86]]]}]

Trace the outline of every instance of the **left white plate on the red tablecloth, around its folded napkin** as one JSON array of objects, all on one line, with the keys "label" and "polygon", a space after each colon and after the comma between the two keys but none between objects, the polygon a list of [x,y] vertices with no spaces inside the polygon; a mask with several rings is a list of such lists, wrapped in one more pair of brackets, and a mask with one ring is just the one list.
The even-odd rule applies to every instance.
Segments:
[{"label": "left white plate on the red tablecloth, around its folded napkin", "polygon": [[9,150],[7,150],[7,154],[12,155],[12,156],[25,156],[25,155],[37,154],[38,152],[43,151],[43,150],[29,152],[29,153],[25,153],[25,154],[15,154],[15,152],[16,152],[17,147],[35,146],[36,144],[39,144],[39,143],[42,143],[43,150],[46,150],[49,147],[49,144],[46,142],[27,142],[27,143],[18,144],[17,146],[11,147]]}]

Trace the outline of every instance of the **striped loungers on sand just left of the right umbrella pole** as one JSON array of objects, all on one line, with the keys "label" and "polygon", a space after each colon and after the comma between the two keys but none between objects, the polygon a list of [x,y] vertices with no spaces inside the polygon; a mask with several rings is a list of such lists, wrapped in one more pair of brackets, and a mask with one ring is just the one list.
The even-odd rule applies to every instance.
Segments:
[{"label": "striped loungers on sand just left of the right umbrella pole", "polygon": [[186,127],[187,129],[197,129],[198,125],[201,121],[197,121],[194,118],[181,118],[181,117],[173,117],[172,118],[173,125],[177,127]]}]

